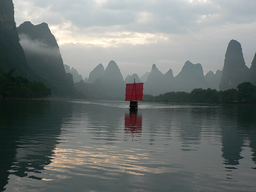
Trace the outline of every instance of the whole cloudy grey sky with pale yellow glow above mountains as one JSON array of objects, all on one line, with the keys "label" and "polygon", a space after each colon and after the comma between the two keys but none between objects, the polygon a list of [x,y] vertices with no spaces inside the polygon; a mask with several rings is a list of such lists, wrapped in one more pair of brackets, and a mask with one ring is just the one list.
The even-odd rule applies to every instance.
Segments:
[{"label": "whole cloudy grey sky with pale yellow glow above mountains", "polygon": [[186,60],[204,74],[222,69],[231,39],[250,68],[256,51],[255,0],[13,0],[15,21],[48,23],[64,64],[83,77],[115,60],[124,78],[152,64],[174,76]]}]

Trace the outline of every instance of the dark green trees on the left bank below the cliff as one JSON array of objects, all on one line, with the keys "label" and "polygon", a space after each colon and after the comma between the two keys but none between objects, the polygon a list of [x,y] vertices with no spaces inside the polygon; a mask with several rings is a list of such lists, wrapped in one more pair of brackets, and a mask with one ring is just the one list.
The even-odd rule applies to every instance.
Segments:
[{"label": "dark green trees on the left bank below the cliff", "polygon": [[51,89],[42,82],[30,82],[24,77],[12,76],[14,70],[0,74],[0,97],[43,98],[51,95]]}]

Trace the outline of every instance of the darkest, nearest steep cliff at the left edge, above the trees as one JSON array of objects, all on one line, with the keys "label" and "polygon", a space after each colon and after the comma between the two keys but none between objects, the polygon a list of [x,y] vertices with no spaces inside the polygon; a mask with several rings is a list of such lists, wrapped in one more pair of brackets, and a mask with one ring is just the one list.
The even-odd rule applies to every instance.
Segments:
[{"label": "darkest, nearest steep cliff at the left edge, above the trees", "polygon": [[30,69],[20,45],[12,0],[0,1],[0,73],[16,68],[13,75],[29,78]]}]

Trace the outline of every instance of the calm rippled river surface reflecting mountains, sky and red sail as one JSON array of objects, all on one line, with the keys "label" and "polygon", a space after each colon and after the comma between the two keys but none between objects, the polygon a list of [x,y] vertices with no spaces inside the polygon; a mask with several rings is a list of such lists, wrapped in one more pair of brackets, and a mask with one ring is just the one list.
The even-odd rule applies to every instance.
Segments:
[{"label": "calm rippled river surface reflecting mountains, sky and red sail", "polygon": [[0,101],[0,191],[256,191],[256,107]]}]

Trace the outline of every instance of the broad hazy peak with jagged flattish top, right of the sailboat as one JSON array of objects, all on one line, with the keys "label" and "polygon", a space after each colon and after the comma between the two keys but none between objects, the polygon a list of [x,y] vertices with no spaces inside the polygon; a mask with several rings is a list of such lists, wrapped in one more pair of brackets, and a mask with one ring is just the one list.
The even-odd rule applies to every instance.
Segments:
[{"label": "broad hazy peak with jagged flattish top, right of the sailboat", "polygon": [[195,88],[207,88],[203,68],[200,63],[186,61],[180,73],[173,79],[172,91],[191,92]]}]

